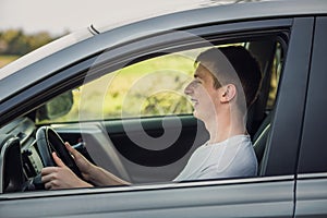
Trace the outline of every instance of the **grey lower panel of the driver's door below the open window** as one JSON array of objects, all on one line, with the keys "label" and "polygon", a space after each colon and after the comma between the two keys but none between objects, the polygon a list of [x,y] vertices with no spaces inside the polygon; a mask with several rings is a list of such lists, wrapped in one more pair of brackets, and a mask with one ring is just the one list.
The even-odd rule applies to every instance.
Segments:
[{"label": "grey lower panel of the driver's door below the open window", "polygon": [[[2,195],[3,217],[291,217],[291,177]],[[38,205],[38,209],[35,206]],[[53,206],[56,205],[56,206]]]}]

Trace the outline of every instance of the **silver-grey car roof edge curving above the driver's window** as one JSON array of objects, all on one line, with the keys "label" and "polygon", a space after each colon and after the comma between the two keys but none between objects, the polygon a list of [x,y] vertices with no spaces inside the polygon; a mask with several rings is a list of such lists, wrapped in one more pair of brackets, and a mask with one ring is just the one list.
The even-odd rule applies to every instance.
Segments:
[{"label": "silver-grey car roof edge curving above the driver's window", "polygon": [[[269,0],[269,1],[232,1],[220,5],[221,1],[202,1],[190,10],[164,14],[143,21],[128,21],[124,25],[92,25],[57,41],[53,41],[29,55],[0,69],[0,102],[36,83],[51,73],[100,52],[105,47],[133,40],[149,34],[182,27],[197,26],[213,22],[246,21],[256,17],[303,16],[327,14],[326,0]],[[206,4],[206,2],[209,2]],[[228,1],[230,2],[230,1]],[[225,2],[226,3],[226,2]],[[219,4],[219,5],[216,5]],[[84,41],[82,45],[81,41]],[[40,61],[43,60],[43,61]],[[20,71],[24,71],[22,78]],[[26,77],[28,81],[26,81]],[[14,81],[15,87],[7,87]]]}]

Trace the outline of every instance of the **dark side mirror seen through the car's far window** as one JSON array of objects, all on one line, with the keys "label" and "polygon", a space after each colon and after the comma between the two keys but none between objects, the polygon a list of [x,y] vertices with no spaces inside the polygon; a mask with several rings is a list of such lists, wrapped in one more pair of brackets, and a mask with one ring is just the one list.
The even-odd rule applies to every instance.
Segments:
[{"label": "dark side mirror seen through the car's far window", "polygon": [[73,102],[73,93],[71,90],[61,94],[38,108],[36,119],[43,121],[60,118],[71,110]]}]

